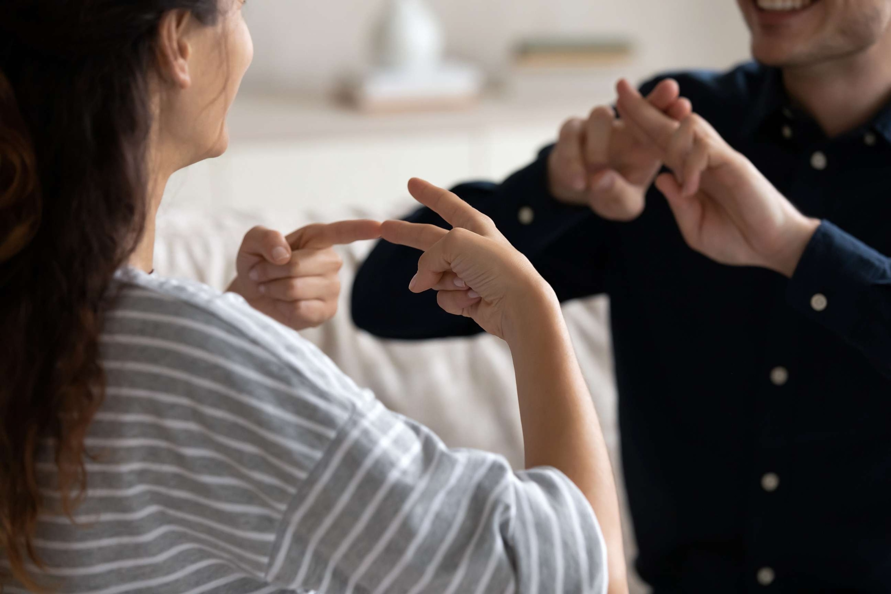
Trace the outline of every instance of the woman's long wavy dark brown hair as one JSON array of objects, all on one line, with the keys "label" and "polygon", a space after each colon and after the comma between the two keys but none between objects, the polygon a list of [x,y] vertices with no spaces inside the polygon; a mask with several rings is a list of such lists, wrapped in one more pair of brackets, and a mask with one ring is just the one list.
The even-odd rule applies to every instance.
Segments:
[{"label": "woman's long wavy dark brown hair", "polygon": [[147,210],[159,22],[184,10],[212,25],[217,4],[0,3],[0,553],[31,589],[41,443],[53,447],[62,510],[86,490],[102,311]]}]

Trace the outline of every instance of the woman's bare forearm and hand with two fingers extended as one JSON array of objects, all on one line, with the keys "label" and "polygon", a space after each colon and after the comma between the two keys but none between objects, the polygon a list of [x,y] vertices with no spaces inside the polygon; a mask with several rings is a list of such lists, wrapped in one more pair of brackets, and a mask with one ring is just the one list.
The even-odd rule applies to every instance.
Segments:
[{"label": "woman's bare forearm and hand with two fingers extended", "polygon": [[511,347],[527,468],[558,468],[584,493],[607,542],[609,592],[624,594],[616,482],[556,294],[488,216],[421,180],[409,191],[453,226],[383,224],[385,240],[424,252],[409,288],[436,290],[446,312],[472,318]]}]

